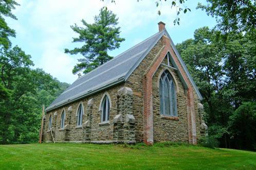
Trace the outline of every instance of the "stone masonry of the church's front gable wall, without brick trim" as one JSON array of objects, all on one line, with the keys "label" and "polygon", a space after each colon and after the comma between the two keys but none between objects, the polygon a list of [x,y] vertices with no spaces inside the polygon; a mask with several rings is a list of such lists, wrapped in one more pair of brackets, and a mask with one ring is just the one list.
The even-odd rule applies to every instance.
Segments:
[{"label": "stone masonry of the church's front gable wall, without brick trim", "polygon": [[[157,55],[159,55],[159,51],[166,45],[165,40],[161,38],[155,47],[149,52],[149,54],[141,61],[140,65],[135,69],[135,71],[128,78],[127,82],[125,82],[126,87],[130,87],[134,91],[134,105],[133,105],[133,114],[135,116],[135,133],[136,133],[136,141],[143,141],[144,136],[144,127],[143,124],[145,122],[143,117],[143,77],[145,71],[149,69],[152,62]],[[174,51],[170,51],[172,55]],[[176,56],[175,56],[176,57]],[[171,61],[170,61],[171,62]],[[164,58],[162,60],[164,65],[167,65],[167,59]],[[178,63],[180,65],[180,63]],[[159,102],[159,86],[158,86],[158,76],[162,69],[169,69],[169,71],[173,74],[174,78],[177,80],[177,86],[179,92],[177,93],[177,110],[178,117],[170,118],[164,117],[160,115],[160,102]],[[183,70],[184,71],[184,70]],[[188,77],[187,77],[188,78]],[[190,86],[192,86],[191,82],[189,82]],[[200,102],[198,97],[193,89],[194,96],[194,116],[196,123],[196,137],[197,139],[200,137],[200,131],[202,129],[202,125],[200,123],[201,117],[198,115],[197,103]],[[150,96],[147,96],[150,97]],[[178,77],[177,71],[170,67],[166,67],[160,65],[154,76],[152,77],[152,98],[153,98],[153,139],[156,142],[159,141],[182,141],[182,142],[191,142],[189,141],[189,123],[188,117],[188,94],[187,90],[182,84],[181,79]]]}]

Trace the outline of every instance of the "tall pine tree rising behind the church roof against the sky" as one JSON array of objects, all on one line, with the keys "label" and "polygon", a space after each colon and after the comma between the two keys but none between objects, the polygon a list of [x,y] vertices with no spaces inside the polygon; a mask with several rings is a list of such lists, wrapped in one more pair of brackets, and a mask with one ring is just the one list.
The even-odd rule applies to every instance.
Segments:
[{"label": "tall pine tree rising behind the church roof against the sky", "polygon": [[107,50],[114,50],[120,47],[120,42],[124,38],[120,38],[120,27],[117,27],[118,18],[107,8],[101,8],[99,15],[95,16],[94,24],[88,24],[82,19],[82,24],[85,26],[71,26],[71,29],[79,34],[79,37],[73,38],[72,42],[84,42],[81,48],[73,50],[65,49],[65,53],[82,54],[83,59],[79,59],[78,63],[72,72],[77,74],[80,71],[88,73],[99,67],[106,61],[112,59],[112,56],[107,54]]}]

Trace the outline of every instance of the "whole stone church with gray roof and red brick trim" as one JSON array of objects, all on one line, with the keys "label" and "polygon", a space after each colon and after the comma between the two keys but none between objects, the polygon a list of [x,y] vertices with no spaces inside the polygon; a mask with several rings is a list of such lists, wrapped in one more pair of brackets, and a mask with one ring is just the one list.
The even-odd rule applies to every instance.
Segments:
[{"label": "whole stone church with gray roof and red brick trim", "polygon": [[202,96],[164,26],[54,100],[42,142],[196,144],[207,130]]}]

